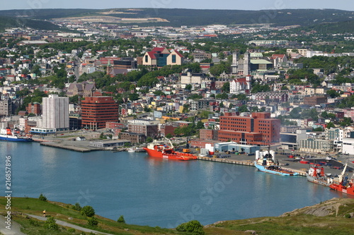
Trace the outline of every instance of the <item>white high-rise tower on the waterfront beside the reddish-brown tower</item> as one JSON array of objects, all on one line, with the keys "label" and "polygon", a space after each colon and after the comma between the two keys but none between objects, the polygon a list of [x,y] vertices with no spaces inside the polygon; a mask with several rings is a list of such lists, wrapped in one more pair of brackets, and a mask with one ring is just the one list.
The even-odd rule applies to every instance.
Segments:
[{"label": "white high-rise tower on the waterfront beside the reddish-brown tower", "polygon": [[43,97],[41,127],[56,128],[57,131],[69,129],[69,97]]}]

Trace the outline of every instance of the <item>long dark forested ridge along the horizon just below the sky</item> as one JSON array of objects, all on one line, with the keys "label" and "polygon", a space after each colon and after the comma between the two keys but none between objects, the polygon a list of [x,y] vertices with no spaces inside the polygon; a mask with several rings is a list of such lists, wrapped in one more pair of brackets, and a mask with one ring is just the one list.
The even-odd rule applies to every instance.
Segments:
[{"label": "long dark forested ridge along the horizon just below the sky", "polygon": [[[319,25],[351,20],[353,11],[335,9],[282,9],[263,11],[241,10],[197,10],[181,8],[115,8],[94,9],[36,9],[33,18],[51,19],[74,16],[96,16],[105,12],[105,16],[129,18],[164,18],[169,23],[149,23],[149,25],[240,25],[272,23],[274,25]],[[26,16],[27,10],[0,11],[1,16]],[[137,23],[135,23],[137,24]]]}]

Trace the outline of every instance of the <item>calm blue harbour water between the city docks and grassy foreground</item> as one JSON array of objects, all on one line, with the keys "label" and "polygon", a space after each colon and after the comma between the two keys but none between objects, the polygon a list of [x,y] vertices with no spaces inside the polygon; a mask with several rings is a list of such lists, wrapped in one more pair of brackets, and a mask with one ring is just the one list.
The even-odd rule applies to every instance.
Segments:
[{"label": "calm blue harbour water between the city docks and grassy foreground", "polygon": [[[72,152],[38,143],[0,142],[1,192],[5,156],[11,155],[13,196],[91,205],[97,215],[129,224],[176,227],[198,219],[278,216],[299,207],[346,196],[255,167],[206,161],[180,162],[146,153]],[[1,181],[0,181],[1,182]]]}]

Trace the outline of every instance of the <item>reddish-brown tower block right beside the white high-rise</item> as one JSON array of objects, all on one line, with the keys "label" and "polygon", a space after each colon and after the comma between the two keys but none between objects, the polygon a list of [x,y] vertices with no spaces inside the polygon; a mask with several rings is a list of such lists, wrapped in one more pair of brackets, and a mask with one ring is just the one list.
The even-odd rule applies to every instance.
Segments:
[{"label": "reddish-brown tower block right beside the white high-rise", "polygon": [[81,101],[82,127],[105,128],[106,122],[118,121],[118,103],[112,97],[85,97]]}]

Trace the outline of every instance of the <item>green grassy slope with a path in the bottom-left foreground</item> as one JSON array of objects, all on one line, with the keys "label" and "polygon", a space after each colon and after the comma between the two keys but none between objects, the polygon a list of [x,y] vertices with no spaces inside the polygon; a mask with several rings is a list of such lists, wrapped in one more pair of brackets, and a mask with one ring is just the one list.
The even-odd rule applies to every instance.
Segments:
[{"label": "green grassy slope with a path in the bottom-left foreground", "polygon": [[[45,222],[38,219],[30,218],[25,214],[42,216],[42,211],[46,210],[47,217],[74,224],[86,229],[101,231],[108,234],[185,234],[174,229],[161,229],[159,227],[139,226],[134,224],[118,223],[112,219],[107,219],[99,215],[95,215],[98,219],[97,227],[87,225],[87,217],[81,215],[79,211],[72,210],[72,205],[65,203],[56,203],[51,201],[42,201],[37,198],[11,198],[11,211],[14,213],[13,221],[18,222],[23,227],[23,233],[30,235],[62,235],[62,234],[81,234],[76,229],[73,233],[69,227],[59,226],[57,231],[48,231],[43,226]],[[0,213],[5,215],[6,198],[0,198]],[[71,217],[71,219],[69,219]],[[89,234],[89,233],[86,233]]]}]

